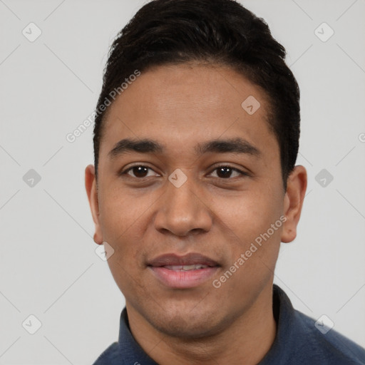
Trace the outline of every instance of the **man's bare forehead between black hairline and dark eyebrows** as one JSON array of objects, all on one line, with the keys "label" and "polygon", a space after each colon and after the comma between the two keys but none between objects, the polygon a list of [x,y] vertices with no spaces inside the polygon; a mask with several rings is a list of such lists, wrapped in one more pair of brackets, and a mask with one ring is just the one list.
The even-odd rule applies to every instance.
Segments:
[{"label": "man's bare forehead between black hairline and dark eyebrows", "polygon": [[278,148],[267,123],[266,94],[225,66],[185,63],[150,69],[109,108],[101,143],[104,155],[127,137],[160,140],[183,150],[187,143],[220,137]]}]

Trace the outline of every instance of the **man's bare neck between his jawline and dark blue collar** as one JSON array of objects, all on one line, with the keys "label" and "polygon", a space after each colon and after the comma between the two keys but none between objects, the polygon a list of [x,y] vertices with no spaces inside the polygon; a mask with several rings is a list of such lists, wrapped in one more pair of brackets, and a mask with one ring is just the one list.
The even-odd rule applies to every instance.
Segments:
[{"label": "man's bare neck between his jawline and dark blue collar", "polygon": [[272,311],[272,287],[219,334],[201,339],[170,337],[152,327],[126,304],[130,331],[143,350],[160,365],[256,365],[274,342],[277,325]]}]

